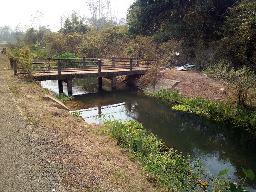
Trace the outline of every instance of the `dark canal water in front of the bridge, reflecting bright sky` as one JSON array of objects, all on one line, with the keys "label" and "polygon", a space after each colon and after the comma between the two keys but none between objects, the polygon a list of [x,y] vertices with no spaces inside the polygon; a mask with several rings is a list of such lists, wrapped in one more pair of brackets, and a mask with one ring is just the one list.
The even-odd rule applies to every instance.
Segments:
[{"label": "dark canal water in front of the bridge, reflecting bright sky", "polygon": [[[127,88],[129,89],[129,88]],[[84,94],[74,100],[86,122],[99,123],[103,115],[115,119],[136,120],[159,136],[167,146],[174,147],[192,160],[200,162],[218,175],[230,168],[232,178],[244,178],[241,167],[256,173],[256,140],[226,124],[198,115],[173,111],[171,106],[144,96],[138,90]],[[256,191],[255,181],[246,180],[250,191]]]}]

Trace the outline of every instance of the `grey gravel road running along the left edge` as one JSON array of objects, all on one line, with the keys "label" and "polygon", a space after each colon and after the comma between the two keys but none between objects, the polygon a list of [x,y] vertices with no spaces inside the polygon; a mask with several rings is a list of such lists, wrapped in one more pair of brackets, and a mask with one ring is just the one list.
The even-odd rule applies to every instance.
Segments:
[{"label": "grey gravel road running along the left edge", "polygon": [[0,192],[66,191],[42,138],[33,134],[35,125],[23,117],[2,73],[0,69]]}]

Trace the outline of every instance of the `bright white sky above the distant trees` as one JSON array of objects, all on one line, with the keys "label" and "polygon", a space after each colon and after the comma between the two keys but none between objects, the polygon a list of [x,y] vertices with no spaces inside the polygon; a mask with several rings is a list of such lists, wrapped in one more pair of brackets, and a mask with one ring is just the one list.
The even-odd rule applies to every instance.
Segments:
[{"label": "bright white sky above the distant trees", "polygon": [[[122,18],[126,16],[127,9],[134,0],[110,0],[110,2],[112,12],[117,12],[118,18]],[[25,26],[26,28],[32,27],[31,15],[36,14],[37,11],[44,14],[45,20],[42,21],[41,26],[48,25],[52,31],[60,29],[60,15],[70,14],[72,10],[75,10],[80,16],[91,17],[87,0],[3,0],[0,6],[0,26],[8,25],[12,29],[18,24],[22,24],[23,30],[25,30]]]}]

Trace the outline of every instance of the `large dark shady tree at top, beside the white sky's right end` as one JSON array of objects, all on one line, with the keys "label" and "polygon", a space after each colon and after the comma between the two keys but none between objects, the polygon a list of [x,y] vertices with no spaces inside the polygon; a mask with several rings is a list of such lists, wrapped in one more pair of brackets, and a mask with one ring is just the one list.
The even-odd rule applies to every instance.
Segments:
[{"label": "large dark shady tree at top, beside the white sky's right end", "polygon": [[236,0],[136,0],[127,16],[130,34],[208,40]]}]

